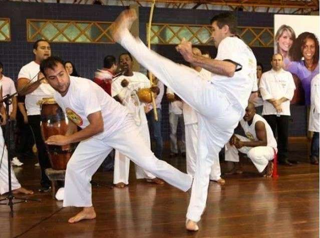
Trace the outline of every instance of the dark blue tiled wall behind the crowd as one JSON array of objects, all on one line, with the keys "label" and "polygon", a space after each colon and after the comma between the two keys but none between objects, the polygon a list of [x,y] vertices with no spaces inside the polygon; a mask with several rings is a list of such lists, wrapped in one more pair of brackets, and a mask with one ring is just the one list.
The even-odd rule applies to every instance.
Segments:
[{"label": "dark blue tiled wall behind the crowd", "polygon": [[[20,68],[34,59],[33,43],[27,42],[27,19],[56,19],[80,21],[114,21],[124,7],[71,5],[71,4],[38,4],[20,2],[1,2],[0,17],[11,20],[11,42],[0,42],[0,61],[4,64],[5,75],[16,80]],[[140,8],[140,37],[146,38],[146,23],[149,20],[149,8]],[[181,24],[209,24],[210,18],[219,11],[183,10],[183,9],[155,9],[153,22],[181,23]],[[239,26],[273,27],[273,14],[238,12]],[[75,63],[78,73],[86,78],[92,78],[97,68],[102,67],[105,55],[118,56],[124,49],[118,44],[68,44],[52,43],[52,54],[64,60]],[[185,63],[172,45],[155,45],[153,50],[169,59]],[[214,47],[204,46],[201,50],[216,55]],[[273,48],[253,48],[257,60],[266,70],[270,69],[270,57]],[[168,102],[162,102],[163,108],[163,136],[169,138]],[[305,108],[293,106],[294,120],[290,123],[291,136],[304,136],[306,130]]]}]

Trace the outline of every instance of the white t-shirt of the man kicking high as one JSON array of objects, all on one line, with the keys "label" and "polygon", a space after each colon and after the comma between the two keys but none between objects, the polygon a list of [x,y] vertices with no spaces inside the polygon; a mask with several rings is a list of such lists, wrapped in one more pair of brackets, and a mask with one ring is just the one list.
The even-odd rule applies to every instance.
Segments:
[{"label": "white t-shirt of the man kicking high", "polygon": [[[256,59],[251,49],[237,37],[226,37],[218,47],[216,60],[232,60],[242,66],[233,77],[221,76],[212,73],[211,83],[216,85],[221,92],[244,110],[256,82]],[[237,66],[236,69],[239,67]]]}]

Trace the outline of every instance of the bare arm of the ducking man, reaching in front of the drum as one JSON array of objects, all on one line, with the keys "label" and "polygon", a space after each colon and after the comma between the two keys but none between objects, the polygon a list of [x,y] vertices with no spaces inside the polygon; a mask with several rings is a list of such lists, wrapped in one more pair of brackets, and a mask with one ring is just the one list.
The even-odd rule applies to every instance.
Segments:
[{"label": "bare arm of the ducking man, reaching in front of the drum", "polygon": [[46,143],[48,145],[66,145],[70,143],[86,140],[94,135],[103,132],[103,118],[101,111],[94,112],[88,115],[89,125],[81,131],[72,135],[54,135],[50,136]]}]

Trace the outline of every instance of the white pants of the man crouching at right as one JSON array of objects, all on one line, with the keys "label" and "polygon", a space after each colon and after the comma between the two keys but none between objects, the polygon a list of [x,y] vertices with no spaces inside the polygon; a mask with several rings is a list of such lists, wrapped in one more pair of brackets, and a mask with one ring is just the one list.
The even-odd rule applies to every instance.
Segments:
[{"label": "white pants of the man crouching at right", "polygon": [[[248,138],[240,135],[236,135],[240,139],[240,141],[250,141]],[[240,149],[235,148],[234,145],[230,145],[229,142],[225,145],[225,160],[239,162],[239,154],[241,153],[247,154],[247,156],[251,159],[254,166],[257,168],[259,173],[261,173],[268,162],[273,159],[274,151],[271,146],[257,146],[257,147],[247,147],[243,146]]]}]

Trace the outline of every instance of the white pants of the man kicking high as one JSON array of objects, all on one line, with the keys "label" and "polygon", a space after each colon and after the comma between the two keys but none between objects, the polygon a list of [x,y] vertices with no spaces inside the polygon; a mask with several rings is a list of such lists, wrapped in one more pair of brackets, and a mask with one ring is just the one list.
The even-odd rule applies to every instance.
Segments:
[{"label": "white pants of the man kicking high", "polygon": [[231,102],[227,93],[203,80],[193,69],[149,50],[129,31],[122,34],[121,45],[199,113],[196,171],[187,211],[187,218],[197,222],[206,204],[211,166],[218,161],[218,153],[241,120],[243,109],[238,102]]}]

